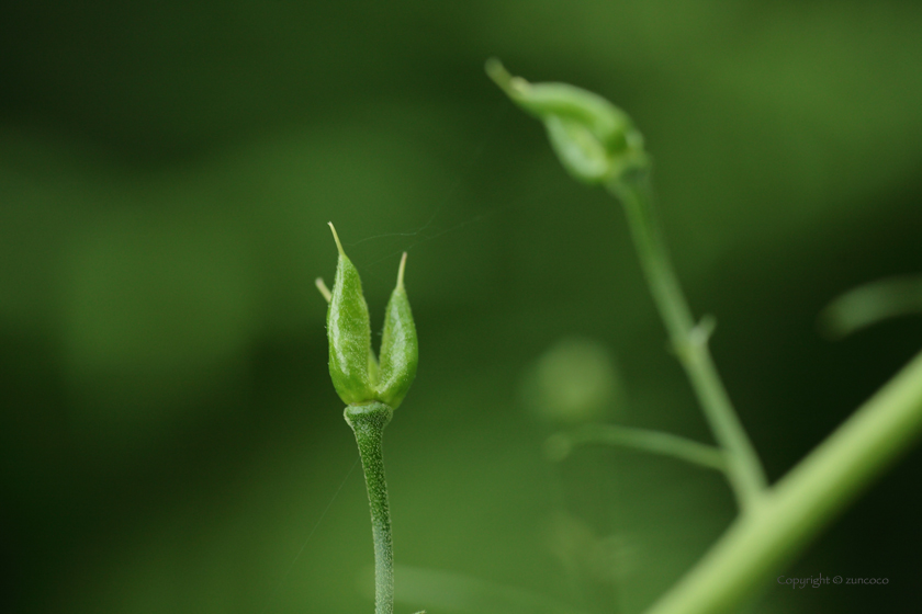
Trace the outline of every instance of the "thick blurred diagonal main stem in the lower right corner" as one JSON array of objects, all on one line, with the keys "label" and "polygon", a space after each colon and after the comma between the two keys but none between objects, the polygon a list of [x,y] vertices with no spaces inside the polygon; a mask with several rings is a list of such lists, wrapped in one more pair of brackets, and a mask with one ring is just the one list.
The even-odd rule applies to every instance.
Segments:
[{"label": "thick blurred diagonal main stem in the lower right corner", "polygon": [[922,353],[742,514],[646,614],[730,612],[922,432]]}]

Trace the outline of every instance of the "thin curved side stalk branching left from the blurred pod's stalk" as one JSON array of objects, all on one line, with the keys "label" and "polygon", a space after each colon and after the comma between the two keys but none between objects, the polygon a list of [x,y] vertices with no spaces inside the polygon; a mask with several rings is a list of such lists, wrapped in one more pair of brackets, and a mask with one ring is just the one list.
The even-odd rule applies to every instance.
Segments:
[{"label": "thin curved side stalk branching left from the blurred pod's stalk", "polygon": [[719,447],[672,433],[620,424],[586,424],[569,433],[556,433],[548,440],[548,443],[549,451],[558,459],[566,457],[574,446],[600,443],[672,456],[718,471],[727,470],[727,453]]}]

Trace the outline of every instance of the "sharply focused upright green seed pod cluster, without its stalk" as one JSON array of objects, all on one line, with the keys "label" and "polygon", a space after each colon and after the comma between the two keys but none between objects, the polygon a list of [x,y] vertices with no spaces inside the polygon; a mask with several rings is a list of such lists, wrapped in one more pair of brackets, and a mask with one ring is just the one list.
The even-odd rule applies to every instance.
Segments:
[{"label": "sharply focused upright green seed pod cluster, without its stalk", "polygon": [[329,227],[339,250],[336,278],[333,292],[326,289],[322,280],[317,280],[317,287],[329,303],[327,338],[333,386],[348,405],[380,401],[396,409],[416,377],[418,362],[416,325],[404,288],[406,253],[387,302],[379,363],[371,348],[371,323],[359,272],[342,250],[333,224]]}]

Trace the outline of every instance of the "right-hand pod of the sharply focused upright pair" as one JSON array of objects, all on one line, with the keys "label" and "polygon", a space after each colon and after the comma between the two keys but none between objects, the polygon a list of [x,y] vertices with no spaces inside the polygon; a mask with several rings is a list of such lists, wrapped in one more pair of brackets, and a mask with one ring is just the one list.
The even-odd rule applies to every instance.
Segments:
[{"label": "right-hand pod of the sharply focused upright pair", "polygon": [[381,378],[378,383],[378,399],[396,409],[416,377],[419,361],[416,341],[416,325],[404,289],[403,277],[406,252],[401,259],[397,286],[391,293],[384,312],[384,336],[381,339]]}]

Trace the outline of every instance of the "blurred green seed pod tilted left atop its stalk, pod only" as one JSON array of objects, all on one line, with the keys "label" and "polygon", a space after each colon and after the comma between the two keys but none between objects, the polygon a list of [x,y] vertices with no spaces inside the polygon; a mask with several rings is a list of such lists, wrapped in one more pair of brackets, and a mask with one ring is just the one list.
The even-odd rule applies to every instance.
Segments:
[{"label": "blurred green seed pod tilted left atop its stalk, pod only", "polygon": [[593,92],[566,83],[529,83],[492,59],[486,72],[521,109],[540,120],[564,169],[597,184],[645,168],[643,137],[630,117]]}]

